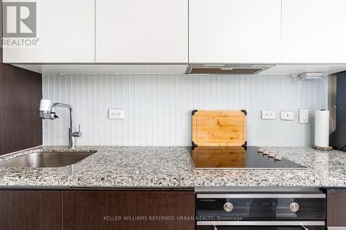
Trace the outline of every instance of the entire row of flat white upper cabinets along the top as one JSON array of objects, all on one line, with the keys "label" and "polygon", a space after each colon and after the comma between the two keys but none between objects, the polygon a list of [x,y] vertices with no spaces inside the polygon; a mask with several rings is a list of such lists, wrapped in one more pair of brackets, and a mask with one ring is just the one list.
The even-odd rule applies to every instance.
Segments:
[{"label": "entire row of flat white upper cabinets along the top", "polygon": [[37,46],[3,46],[3,62],[346,64],[346,0],[36,2],[30,38],[35,10],[4,1],[3,41]]}]

